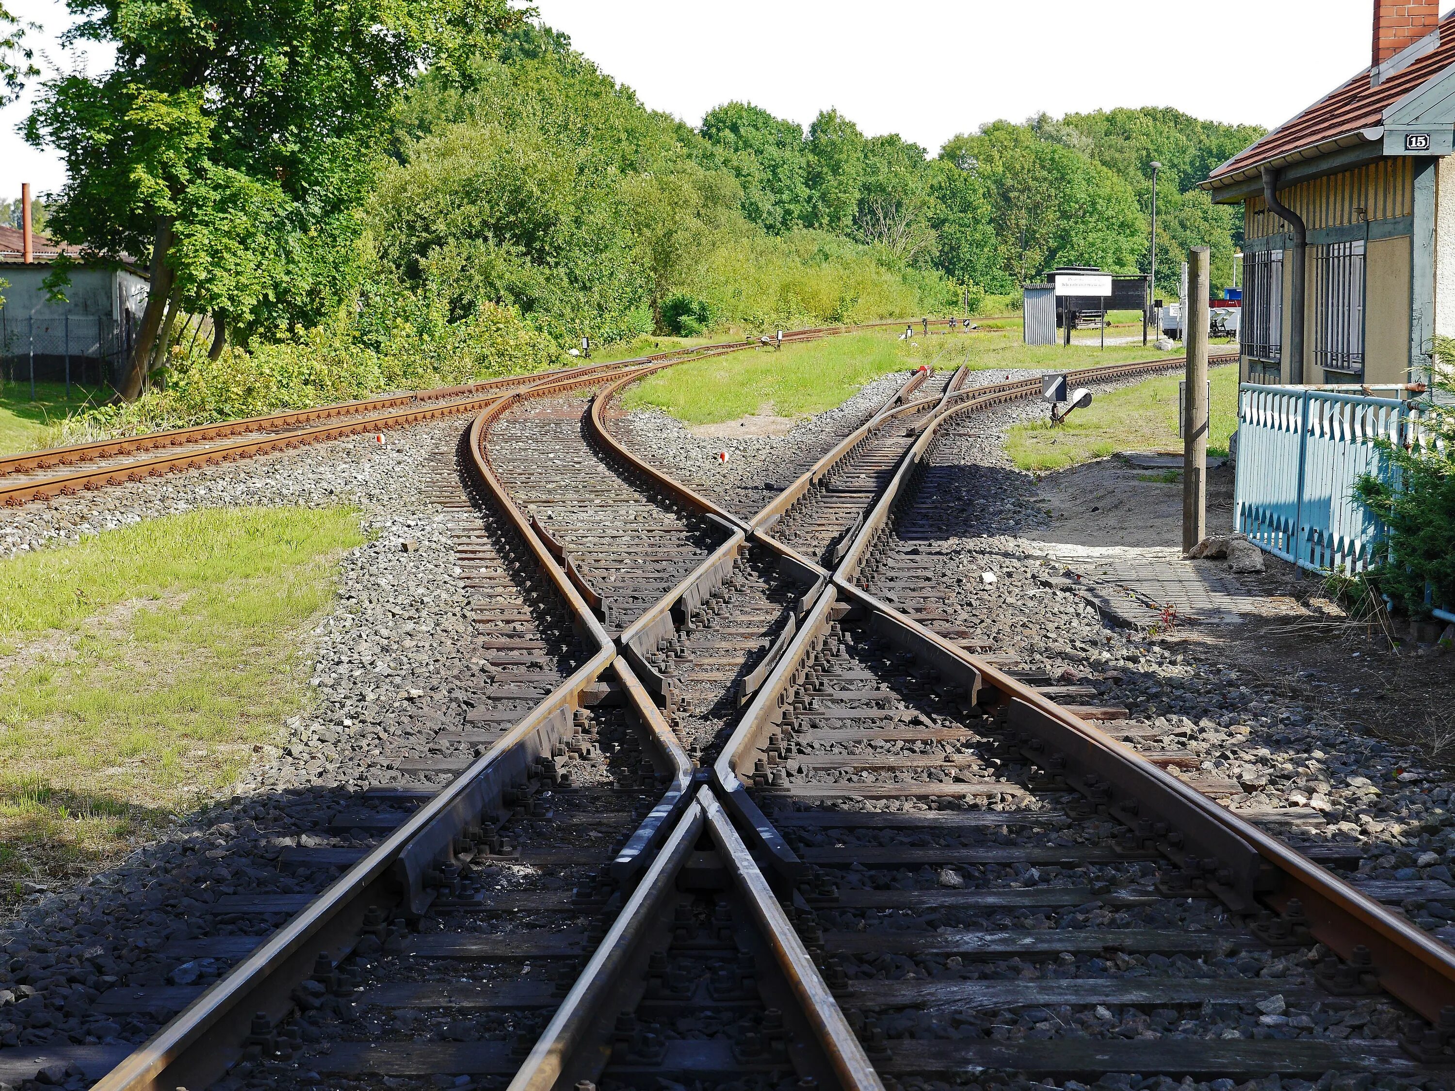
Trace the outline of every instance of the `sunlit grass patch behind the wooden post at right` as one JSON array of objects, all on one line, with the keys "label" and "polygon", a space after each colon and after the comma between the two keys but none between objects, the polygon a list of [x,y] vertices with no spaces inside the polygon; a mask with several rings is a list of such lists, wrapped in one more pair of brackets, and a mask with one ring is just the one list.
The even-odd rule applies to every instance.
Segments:
[{"label": "sunlit grass patch behind the wooden post at right", "polygon": [[[1238,428],[1238,368],[1218,367],[1212,378],[1212,432],[1208,454],[1225,455]],[[1016,425],[1005,451],[1021,470],[1064,470],[1122,451],[1181,451],[1177,438],[1177,375],[1138,383],[1099,396],[1064,425]],[[1170,471],[1176,474],[1177,471]],[[1151,480],[1151,479],[1149,479]],[[1176,480],[1157,476],[1154,480]]]}]

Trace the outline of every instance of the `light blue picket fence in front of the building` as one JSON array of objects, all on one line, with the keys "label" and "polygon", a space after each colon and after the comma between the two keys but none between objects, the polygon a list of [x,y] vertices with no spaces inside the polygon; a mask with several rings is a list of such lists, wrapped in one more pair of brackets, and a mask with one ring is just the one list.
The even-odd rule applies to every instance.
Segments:
[{"label": "light blue picket fence in front of the building", "polygon": [[1363,572],[1382,527],[1355,496],[1385,477],[1378,441],[1426,442],[1424,413],[1397,399],[1244,383],[1238,390],[1234,521],[1248,540],[1305,569]]}]

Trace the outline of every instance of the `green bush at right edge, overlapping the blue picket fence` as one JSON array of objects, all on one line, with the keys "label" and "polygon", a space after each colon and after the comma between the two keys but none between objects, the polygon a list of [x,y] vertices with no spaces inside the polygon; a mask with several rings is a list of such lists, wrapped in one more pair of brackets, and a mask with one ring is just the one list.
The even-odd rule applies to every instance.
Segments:
[{"label": "green bush at right edge, overlapping the blue picket fence", "polygon": [[[1436,385],[1455,393],[1455,340],[1436,337],[1435,358]],[[1427,592],[1455,604],[1455,410],[1433,406],[1427,428],[1433,442],[1413,449],[1381,442],[1385,473],[1358,484],[1387,529],[1369,579],[1414,617],[1429,615]]]}]

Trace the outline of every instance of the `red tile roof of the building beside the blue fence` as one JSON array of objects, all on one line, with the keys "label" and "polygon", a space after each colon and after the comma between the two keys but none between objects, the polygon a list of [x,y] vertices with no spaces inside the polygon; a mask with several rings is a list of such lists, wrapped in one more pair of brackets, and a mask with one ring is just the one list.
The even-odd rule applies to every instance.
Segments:
[{"label": "red tile roof of the building beside the blue fence", "polygon": [[1275,159],[1312,148],[1359,129],[1374,128],[1384,121],[1384,112],[1423,84],[1432,76],[1455,64],[1455,12],[1440,19],[1440,44],[1420,57],[1408,68],[1394,73],[1384,83],[1369,83],[1365,68],[1349,83],[1330,92],[1292,121],[1285,121],[1263,140],[1251,144],[1212,172],[1215,183],[1229,175],[1261,166]]}]

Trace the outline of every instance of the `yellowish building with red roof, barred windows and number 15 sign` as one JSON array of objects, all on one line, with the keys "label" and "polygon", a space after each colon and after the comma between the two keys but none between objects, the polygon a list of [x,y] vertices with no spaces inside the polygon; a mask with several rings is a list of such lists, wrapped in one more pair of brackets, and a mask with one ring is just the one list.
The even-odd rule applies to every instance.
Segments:
[{"label": "yellowish building with red roof, barred windows and number 15 sign", "polygon": [[1203,182],[1244,209],[1244,381],[1427,377],[1455,336],[1452,153],[1455,13],[1375,0],[1369,67]]}]

